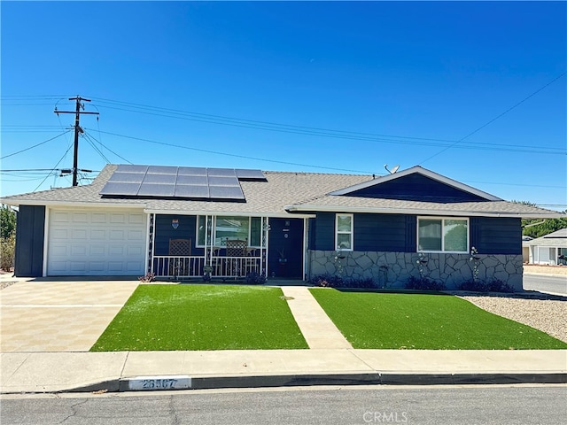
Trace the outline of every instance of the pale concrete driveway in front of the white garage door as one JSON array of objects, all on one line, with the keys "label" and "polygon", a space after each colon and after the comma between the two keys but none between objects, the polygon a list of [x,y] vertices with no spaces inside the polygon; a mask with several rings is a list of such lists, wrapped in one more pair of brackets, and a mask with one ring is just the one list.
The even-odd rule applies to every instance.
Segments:
[{"label": "pale concrete driveway in front of the white garage door", "polygon": [[12,284],[0,290],[0,352],[88,352],[138,284]]}]

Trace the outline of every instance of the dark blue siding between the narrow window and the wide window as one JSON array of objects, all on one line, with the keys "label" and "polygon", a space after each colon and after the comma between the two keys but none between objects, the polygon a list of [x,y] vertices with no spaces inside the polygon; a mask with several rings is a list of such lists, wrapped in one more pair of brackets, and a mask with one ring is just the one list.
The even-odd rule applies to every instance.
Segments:
[{"label": "dark blue siding between the narrow window and the wide window", "polygon": [[354,214],[354,251],[406,249],[406,218],[401,214]]}]

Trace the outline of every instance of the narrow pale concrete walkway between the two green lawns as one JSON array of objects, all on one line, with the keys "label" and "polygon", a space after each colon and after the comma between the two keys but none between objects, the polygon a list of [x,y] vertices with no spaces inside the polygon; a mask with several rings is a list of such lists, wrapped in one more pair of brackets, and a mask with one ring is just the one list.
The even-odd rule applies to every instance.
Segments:
[{"label": "narrow pale concrete walkway between the two green lawns", "polygon": [[283,286],[282,290],[309,348],[353,348],[305,286]]}]

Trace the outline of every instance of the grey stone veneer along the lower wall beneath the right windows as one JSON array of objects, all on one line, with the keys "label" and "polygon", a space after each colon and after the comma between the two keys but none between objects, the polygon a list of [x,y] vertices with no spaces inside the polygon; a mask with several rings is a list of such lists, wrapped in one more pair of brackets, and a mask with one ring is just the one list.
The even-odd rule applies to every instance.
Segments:
[{"label": "grey stone veneer along the lower wall beneath the right windows", "polygon": [[[341,274],[345,278],[372,278],[380,288],[404,288],[411,276],[422,274],[435,282],[444,282],[447,289],[477,278],[483,282],[493,279],[507,282],[514,290],[523,290],[522,255],[475,255],[423,253],[419,263],[416,252],[309,251],[310,277],[318,274]],[[422,271],[420,272],[420,268]]]}]

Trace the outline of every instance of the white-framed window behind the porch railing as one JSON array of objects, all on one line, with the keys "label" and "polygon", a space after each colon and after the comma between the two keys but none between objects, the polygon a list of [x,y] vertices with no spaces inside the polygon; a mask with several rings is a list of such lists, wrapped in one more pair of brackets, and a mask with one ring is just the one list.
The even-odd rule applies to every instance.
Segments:
[{"label": "white-framed window behind the porch railing", "polygon": [[[209,220],[210,224],[211,220]],[[210,227],[210,226],[209,226]],[[240,239],[248,241],[248,246],[260,248],[261,244],[261,217],[242,217],[233,215],[219,215],[214,220],[214,246],[224,246],[227,239]],[[209,229],[210,230],[210,229]],[[197,218],[197,245],[205,246],[206,216]]]}]

